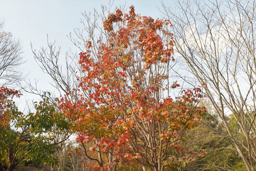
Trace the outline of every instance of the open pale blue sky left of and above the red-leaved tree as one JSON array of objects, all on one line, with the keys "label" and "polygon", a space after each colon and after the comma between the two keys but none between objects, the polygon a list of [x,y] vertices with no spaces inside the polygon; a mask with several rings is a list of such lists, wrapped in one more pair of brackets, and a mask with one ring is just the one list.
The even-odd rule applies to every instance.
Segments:
[{"label": "open pale blue sky left of and above the red-leaved tree", "polygon": [[[65,52],[72,47],[67,35],[75,28],[81,27],[81,13],[100,11],[101,5],[108,6],[109,0],[0,0],[0,20],[4,21],[4,31],[11,32],[20,41],[23,49],[23,59],[26,61],[21,69],[27,75],[26,80],[38,81],[37,86],[44,91],[53,91],[50,77],[44,74],[34,60],[33,49],[47,46],[47,35],[50,41],[56,41],[61,47],[60,59],[65,58]],[[173,1],[163,1],[170,4]],[[135,6],[135,12],[141,15],[161,18],[162,0],[114,1],[114,6]],[[158,8],[159,7],[159,8]],[[23,92],[24,96],[17,105],[23,106],[24,99],[38,98]]]}]

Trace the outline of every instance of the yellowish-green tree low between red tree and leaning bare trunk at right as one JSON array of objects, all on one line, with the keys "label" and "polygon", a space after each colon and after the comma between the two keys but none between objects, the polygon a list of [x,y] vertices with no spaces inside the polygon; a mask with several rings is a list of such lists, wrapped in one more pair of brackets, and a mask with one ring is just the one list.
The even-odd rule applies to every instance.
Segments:
[{"label": "yellowish-green tree low between red tree and leaning bare trunk at right", "polygon": [[[223,122],[218,119],[209,101],[197,127],[183,136],[184,145],[190,152],[203,152],[203,156],[190,162],[182,170],[244,170],[246,169],[232,141],[225,135]],[[241,165],[241,166],[240,166]]]}]

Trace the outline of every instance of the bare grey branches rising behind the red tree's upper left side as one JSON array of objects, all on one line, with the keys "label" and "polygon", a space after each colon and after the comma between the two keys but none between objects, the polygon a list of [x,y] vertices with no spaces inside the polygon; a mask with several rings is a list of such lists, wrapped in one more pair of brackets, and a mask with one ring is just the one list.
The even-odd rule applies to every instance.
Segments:
[{"label": "bare grey branches rising behind the red tree's upper left side", "polygon": [[[100,12],[94,10],[93,13],[82,13],[82,18],[80,19],[82,27],[74,29],[74,32],[68,35],[68,38],[75,47],[74,49],[78,52],[73,52],[72,50],[74,49],[70,49],[66,51],[66,54],[61,54],[61,47],[56,46],[55,41],[53,43],[49,42],[48,38],[48,47],[41,47],[39,50],[32,48],[34,59],[38,66],[52,78],[52,86],[60,94],[68,93],[70,97],[76,99],[76,94],[72,90],[78,88],[77,77],[83,76],[78,64],[79,53],[87,50],[87,41],[93,41],[93,44],[96,44],[96,39],[102,39],[105,31],[100,23],[112,11],[113,1],[109,2],[108,7],[102,6],[101,8],[102,11]],[[35,87],[30,87],[30,89],[31,92],[38,92],[38,89]]]}]

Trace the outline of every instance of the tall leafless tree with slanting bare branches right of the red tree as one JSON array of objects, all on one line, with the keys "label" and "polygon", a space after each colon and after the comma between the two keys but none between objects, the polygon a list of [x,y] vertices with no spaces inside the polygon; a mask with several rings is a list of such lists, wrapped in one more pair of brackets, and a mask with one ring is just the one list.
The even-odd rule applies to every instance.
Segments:
[{"label": "tall leafless tree with slanting bare branches right of the red tree", "polygon": [[255,1],[183,1],[177,2],[180,11],[163,8],[174,24],[177,54],[202,85],[246,169],[255,170]]}]

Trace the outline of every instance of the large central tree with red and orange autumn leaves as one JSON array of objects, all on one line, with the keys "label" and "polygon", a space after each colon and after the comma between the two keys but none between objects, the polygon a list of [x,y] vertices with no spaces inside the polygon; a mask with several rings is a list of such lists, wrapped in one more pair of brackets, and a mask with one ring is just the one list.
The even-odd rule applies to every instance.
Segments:
[{"label": "large central tree with red and orange autumn leaves", "polygon": [[142,17],[131,6],[129,13],[110,13],[103,26],[102,36],[91,36],[80,53],[76,98],[63,97],[61,109],[77,123],[78,142],[94,143],[97,158],[84,152],[102,169],[136,161],[143,170],[166,170],[169,150],[184,151],[183,133],[201,118],[201,89],[170,97],[179,84],[169,85],[175,59],[168,20]]}]

